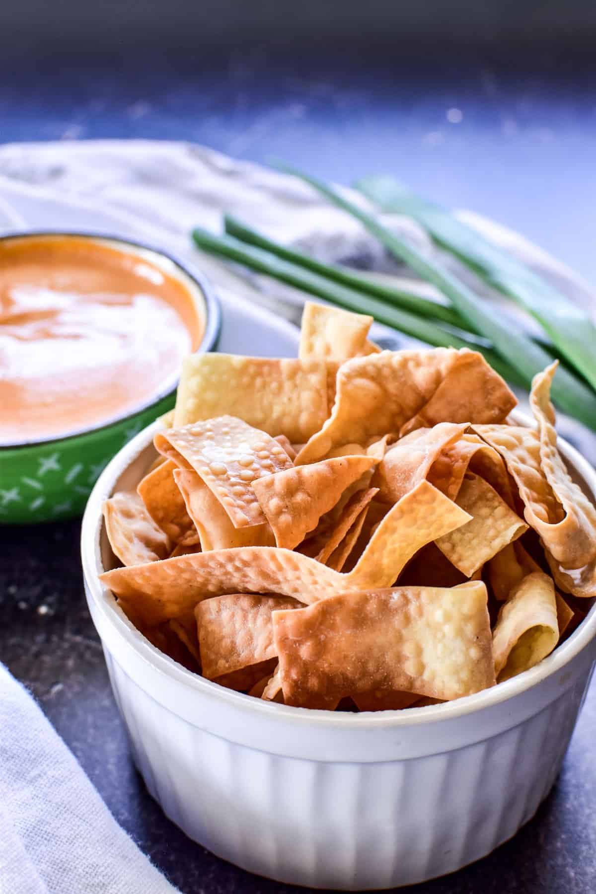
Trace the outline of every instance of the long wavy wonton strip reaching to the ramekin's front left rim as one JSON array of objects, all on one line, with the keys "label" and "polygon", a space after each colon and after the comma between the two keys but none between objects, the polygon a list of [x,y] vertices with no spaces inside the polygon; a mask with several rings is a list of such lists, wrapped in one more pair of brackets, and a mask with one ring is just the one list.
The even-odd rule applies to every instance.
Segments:
[{"label": "long wavy wonton strip reaching to the ramekin's front left rim", "polygon": [[280,594],[308,604],[345,590],[346,578],[299,552],[269,546],[197,552],[100,576],[130,618],[154,627],[209,596]]}]

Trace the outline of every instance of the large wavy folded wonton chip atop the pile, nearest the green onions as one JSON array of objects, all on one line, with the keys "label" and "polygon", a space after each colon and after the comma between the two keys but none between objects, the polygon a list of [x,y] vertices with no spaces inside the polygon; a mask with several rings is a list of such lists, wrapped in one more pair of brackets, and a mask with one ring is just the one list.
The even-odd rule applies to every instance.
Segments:
[{"label": "large wavy folded wonton chip atop the pile, nearest the green onions", "polygon": [[[470,358],[474,360],[471,365]],[[458,366],[467,370],[466,388],[474,393],[480,383],[484,399],[474,401],[471,413],[464,403],[459,405],[459,415],[451,415],[454,408],[445,395],[445,413],[441,413],[441,401],[430,404],[432,395],[441,382]],[[497,408],[486,404],[486,397],[494,389],[505,389],[507,400]],[[296,459],[298,464],[315,462],[326,456],[333,447],[350,441],[368,444],[383,434],[396,432],[411,421],[420,410],[430,407],[430,423],[480,422],[504,419],[516,405],[516,399],[507,385],[486,364],[480,354],[466,349],[435,348],[432,350],[382,351],[369,357],[354,358],[343,363],[337,375],[337,396],[331,417],[323,428],[314,434]]]}]

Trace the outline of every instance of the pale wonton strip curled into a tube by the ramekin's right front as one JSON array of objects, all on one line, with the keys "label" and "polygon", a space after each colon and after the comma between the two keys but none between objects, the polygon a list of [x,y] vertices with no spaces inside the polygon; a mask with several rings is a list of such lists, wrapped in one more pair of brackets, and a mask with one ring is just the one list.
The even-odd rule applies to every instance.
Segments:
[{"label": "pale wonton strip curled into a tube by the ramekin's right front", "polygon": [[492,634],[499,681],[515,677],[541,662],[558,642],[555,587],[548,575],[526,575],[499,611]]}]

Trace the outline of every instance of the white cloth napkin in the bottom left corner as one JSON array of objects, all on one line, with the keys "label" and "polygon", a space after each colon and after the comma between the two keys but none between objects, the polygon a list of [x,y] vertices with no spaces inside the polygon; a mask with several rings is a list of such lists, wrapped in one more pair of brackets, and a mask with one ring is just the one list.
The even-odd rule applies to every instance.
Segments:
[{"label": "white cloth napkin in the bottom left corner", "polygon": [[175,894],[0,665],[0,894]]}]

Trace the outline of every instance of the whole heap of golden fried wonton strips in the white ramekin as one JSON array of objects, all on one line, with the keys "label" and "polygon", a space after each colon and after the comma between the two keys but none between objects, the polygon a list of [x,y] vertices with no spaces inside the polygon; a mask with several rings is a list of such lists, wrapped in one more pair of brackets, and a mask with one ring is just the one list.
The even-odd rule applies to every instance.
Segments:
[{"label": "whole heap of golden fried wonton strips in the white ramekin", "polygon": [[187,358],[158,460],[105,503],[124,566],[105,585],[222,686],[329,710],[459,698],[540,662],[596,595],[555,366],[528,429],[480,354],[380,352],[371,322],[309,304],[298,359]]}]

